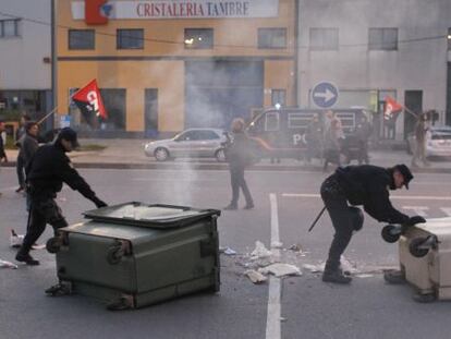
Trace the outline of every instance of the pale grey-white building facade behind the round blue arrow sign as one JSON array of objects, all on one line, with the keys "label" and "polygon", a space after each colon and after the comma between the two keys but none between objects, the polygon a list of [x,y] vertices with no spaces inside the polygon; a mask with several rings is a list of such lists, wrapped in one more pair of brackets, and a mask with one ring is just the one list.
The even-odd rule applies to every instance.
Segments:
[{"label": "pale grey-white building facade behind the round blue arrow sign", "polygon": [[451,1],[300,0],[298,8],[301,107],[318,107],[312,90],[327,82],[338,89],[333,107],[370,109],[381,137],[402,140],[415,122],[404,112],[388,135],[378,121],[388,95],[451,124]]}]

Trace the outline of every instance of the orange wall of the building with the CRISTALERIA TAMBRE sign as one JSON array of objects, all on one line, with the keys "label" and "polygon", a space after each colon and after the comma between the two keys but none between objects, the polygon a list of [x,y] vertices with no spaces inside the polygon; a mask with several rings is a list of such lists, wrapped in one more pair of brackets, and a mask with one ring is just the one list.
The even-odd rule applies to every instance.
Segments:
[{"label": "orange wall of the building with the CRISTALERIA TAMBRE sign", "polygon": [[[184,126],[184,57],[292,57],[265,61],[265,88],[285,88],[288,104],[293,105],[294,77],[294,0],[279,1],[279,17],[275,19],[216,19],[216,20],[110,20],[107,25],[88,26],[72,20],[71,1],[58,1],[58,57],[157,57],[162,60],[134,61],[59,61],[58,112],[68,112],[69,88],[82,87],[97,78],[100,88],[126,89],[126,125],[130,132],[144,131],[144,89],[158,88],[159,130],[180,131]],[[69,50],[68,27],[95,29],[95,50]],[[184,28],[210,27],[215,32],[215,47],[210,50],[185,49]],[[287,49],[258,49],[259,27],[287,27]],[[144,49],[117,50],[118,28],[144,28]],[[240,34],[231,34],[239,32]],[[178,44],[157,43],[158,40]],[[168,57],[180,57],[169,60]],[[265,105],[270,105],[270,93],[265,90]]]}]

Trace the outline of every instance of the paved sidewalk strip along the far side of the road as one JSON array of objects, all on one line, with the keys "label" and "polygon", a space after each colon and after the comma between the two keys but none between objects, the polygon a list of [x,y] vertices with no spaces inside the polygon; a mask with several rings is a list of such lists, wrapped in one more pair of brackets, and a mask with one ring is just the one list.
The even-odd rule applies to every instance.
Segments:
[{"label": "paved sidewalk strip along the far side of the road", "polygon": [[[216,159],[198,159],[184,158],[164,162],[158,162],[155,158],[146,157],[144,154],[144,145],[148,140],[130,140],[130,138],[112,138],[112,140],[93,140],[81,138],[82,145],[101,145],[105,149],[93,152],[72,152],[69,154],[73,164],[77,168],[134,168],[134,169],[204,169],[218,170],[228,168],[224,162],[218,162]],[[3,166],[15,166],[17,150],[7,150],[10,162]],[[377,149],[370,150],[370,164],[391,167],[395,164],[411,165],[412,156],[404,150]],[[353,161],[351,165],[356,165]],[[254,165],[255,170],[321,170],[320,162],[315,159],[312,164],[306,165],[304,161],[294,159],[282,159],[281,164],[270,164],[269,159],[263,159]],[[332,166],[330,166],[332,169]],[[412,169],[413,172],[430,172],[430,173],[451,173],[451,161],[434,160],[430,167],[422,167]]]}]

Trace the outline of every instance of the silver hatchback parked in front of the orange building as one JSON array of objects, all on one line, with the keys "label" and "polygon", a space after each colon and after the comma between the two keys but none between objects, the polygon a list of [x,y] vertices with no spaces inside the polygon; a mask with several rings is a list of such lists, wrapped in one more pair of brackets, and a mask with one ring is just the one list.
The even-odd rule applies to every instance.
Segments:
[{"label": "silver hatchback parked in front of the orange building", "polygon": [[220,129],[188,129],[172,138],[149,142],[144,147],[148,157],[166,161],[180,157],[211,157],[226,161],[227,132]]}]

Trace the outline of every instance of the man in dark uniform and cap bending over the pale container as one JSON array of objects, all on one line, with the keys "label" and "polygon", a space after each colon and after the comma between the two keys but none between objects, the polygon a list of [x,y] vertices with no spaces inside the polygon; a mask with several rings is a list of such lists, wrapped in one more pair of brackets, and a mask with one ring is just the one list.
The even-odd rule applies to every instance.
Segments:
[{"label": "man in dark uniform and cap bending over the pale container", "polygon": [[379,222],[412,226],[426,220],[420,216],[409,217],[390,203],[389,190],[409,189],[413,179],[405,165],[381,168],[371,165],[339,167],[321,185],[321,198],[336,230],[326,262],[322,281],[349,283],[351,277],[343,274],[340,257],[354,231],[363,227],[364,216],[358,205]]}]

